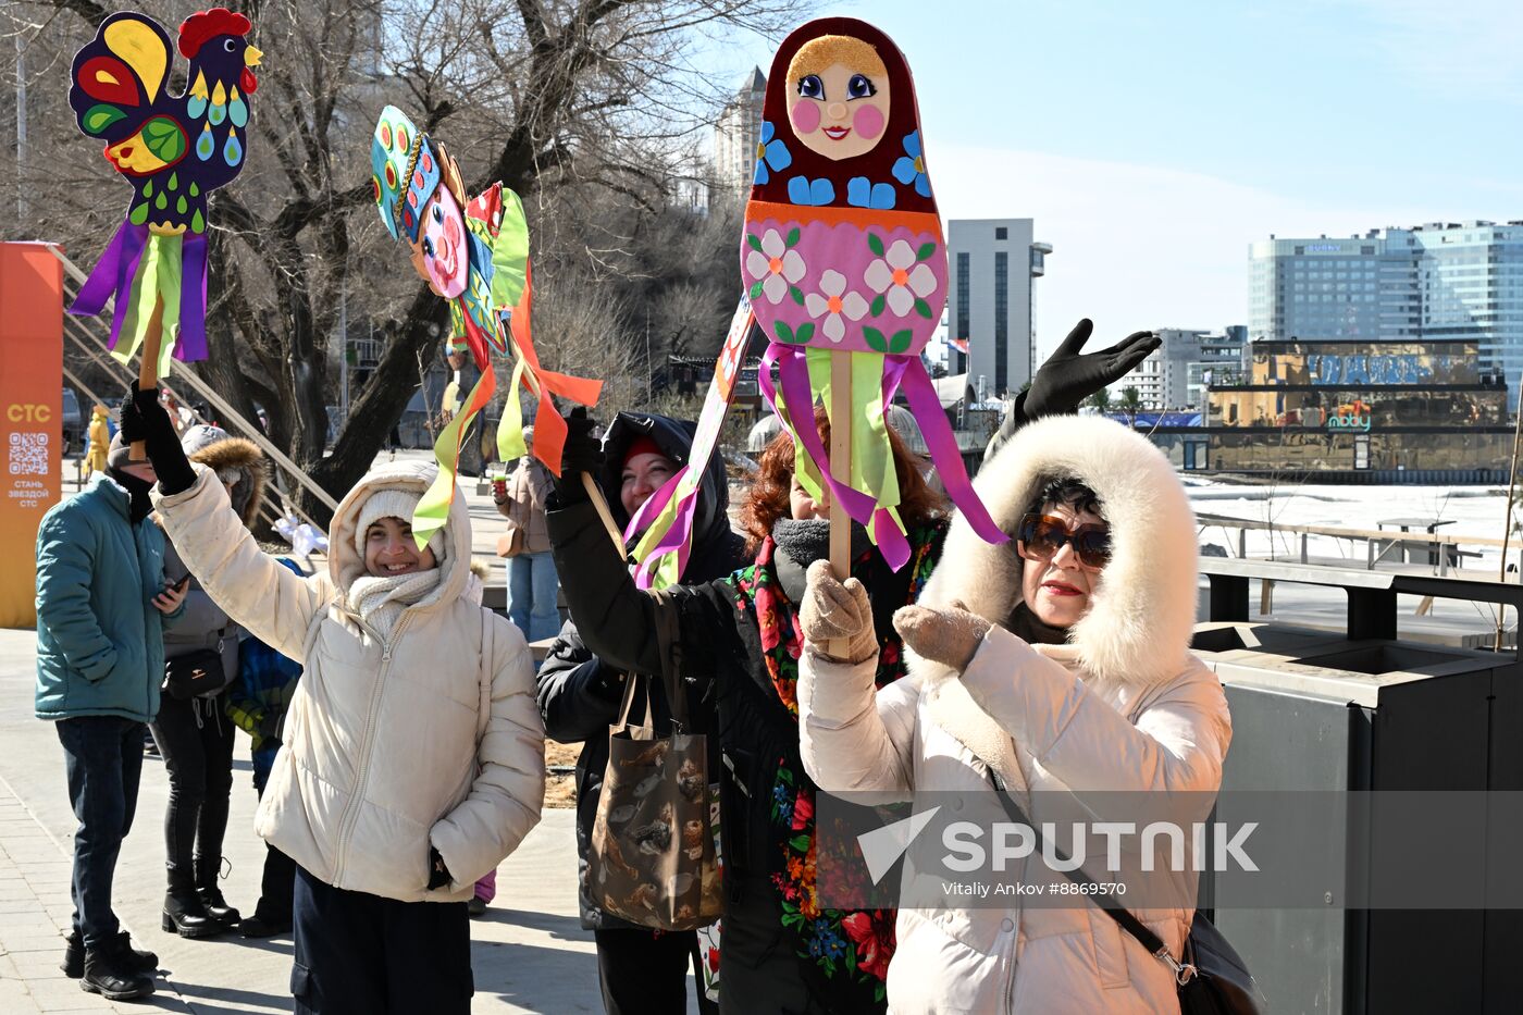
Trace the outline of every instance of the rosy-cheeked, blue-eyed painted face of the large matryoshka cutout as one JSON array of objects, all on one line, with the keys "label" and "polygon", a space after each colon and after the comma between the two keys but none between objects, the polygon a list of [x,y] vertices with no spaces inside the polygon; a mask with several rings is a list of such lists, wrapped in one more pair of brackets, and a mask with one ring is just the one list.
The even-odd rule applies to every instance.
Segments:
[{"label": "rosy-cheeked, blue-eyed painted face of the large matryoshka cutout", "polygon": [[787,119],[798,140],[825,158],[856,158],[888,126],[888,69],[859,38],[824,35],[787,66]]}]

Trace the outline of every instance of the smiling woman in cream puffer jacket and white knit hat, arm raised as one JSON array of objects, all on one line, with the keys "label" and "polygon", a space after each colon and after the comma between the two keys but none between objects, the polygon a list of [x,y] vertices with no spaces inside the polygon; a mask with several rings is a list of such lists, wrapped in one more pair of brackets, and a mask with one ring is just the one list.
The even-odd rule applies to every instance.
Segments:
[{"label": "smiling woman in cream puffer jacket and white knit hat, arm raised", "polygon": [[524,636],[472,600],[463,498],[419,547],[433,466],[373,469],[334,512],[326,573],[299,578],[186,460],[154,393],[129,407],[190,573],[305,666],[254,820],[297,864],[295,1010],[469,1012],[466,899],[539,820],[545,764]]}]

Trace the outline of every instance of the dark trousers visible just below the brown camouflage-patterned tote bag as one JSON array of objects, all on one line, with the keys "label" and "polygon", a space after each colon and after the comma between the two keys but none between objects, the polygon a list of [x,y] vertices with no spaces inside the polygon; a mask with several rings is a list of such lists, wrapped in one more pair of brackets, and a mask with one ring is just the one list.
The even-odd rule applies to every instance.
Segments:
[{"label": "dark trousers visible just below the brown camouflage-patterned tote bag", "polygon": [[[698,962],[698,931],[647,930],[592,931],[597,940],[597,981],[608,1015],[670,1015],[687,1010],[687,968],[694,962],[698,1010],[711,1015],[719,1004],[704,997]],[[723,986],[723,980],[720,980]]]}]

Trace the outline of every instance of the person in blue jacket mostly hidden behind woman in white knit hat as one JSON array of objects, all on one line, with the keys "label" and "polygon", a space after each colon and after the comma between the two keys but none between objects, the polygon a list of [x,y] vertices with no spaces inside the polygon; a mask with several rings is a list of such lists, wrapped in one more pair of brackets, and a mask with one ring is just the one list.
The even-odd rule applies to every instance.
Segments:
[{"label": "person in blue jacket mostly hidden behind woman in white knit hat", "polygon": [[[302,568],[286,556],[277,556],[294,575]],[[302,664],[282,655],[259,639],[248,636],[238,646],[238,680],[227,690],[227,718],[253,738],[250,760],[254,770],[254,792],[262,800],[270,783],[270,770],[280,750],[295,681]],[[259,902],[251,916],[238,925],[244,937],[274,937],[291,933],[291,899],[295,890],[295,863],[265,843],[265,869],[259,881]]]}]

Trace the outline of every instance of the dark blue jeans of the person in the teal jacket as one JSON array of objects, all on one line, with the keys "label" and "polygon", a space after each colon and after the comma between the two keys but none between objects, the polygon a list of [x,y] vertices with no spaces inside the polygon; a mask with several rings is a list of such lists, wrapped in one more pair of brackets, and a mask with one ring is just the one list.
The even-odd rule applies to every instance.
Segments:
[{"label": "dark blue jeans of the person in the teal jacket", "polygon": [[133,828],[143,773],[143,724],[111,715],[59,719],[75,832],[73,928],[85,948],[99,948],[120,930],[111,910],[111,881],[122,840]]}]

